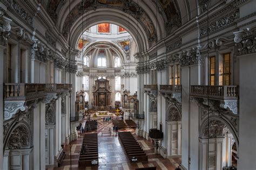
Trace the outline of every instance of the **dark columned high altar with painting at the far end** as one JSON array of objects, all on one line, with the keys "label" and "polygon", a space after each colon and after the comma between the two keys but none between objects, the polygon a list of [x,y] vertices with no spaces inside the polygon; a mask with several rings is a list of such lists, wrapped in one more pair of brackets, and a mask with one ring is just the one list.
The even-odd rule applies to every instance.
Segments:
[{"label": "dark columned high altar with painting at the far end", "polygon": [[92,94],[95,107],[109,107],[111,105],[109,80],[103,79],[103,77],[96,80]]}]

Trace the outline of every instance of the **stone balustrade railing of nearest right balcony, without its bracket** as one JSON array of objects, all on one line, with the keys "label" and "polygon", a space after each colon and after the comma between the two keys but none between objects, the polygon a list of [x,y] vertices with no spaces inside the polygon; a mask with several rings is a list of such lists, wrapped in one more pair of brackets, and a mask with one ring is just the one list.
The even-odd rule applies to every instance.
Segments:
[{"label": "stone balustrade railing of nearest right balcony, without its bracket", "polygon": [[238,86],[191,86],[191,96],[237,99]]}]

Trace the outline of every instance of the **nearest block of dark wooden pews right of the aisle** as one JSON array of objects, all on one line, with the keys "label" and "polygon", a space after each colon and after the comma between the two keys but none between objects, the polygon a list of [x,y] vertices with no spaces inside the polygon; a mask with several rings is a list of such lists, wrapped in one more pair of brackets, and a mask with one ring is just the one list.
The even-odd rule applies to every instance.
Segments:
[{"label": "nearest block of dark wooden pews right of the aisle", "polygon": [[143,151],[143,148],[140,147],[137,140],[132,136],[131,132],[119,132],[118,137],[131,162],[147,161],[146,153]]}]

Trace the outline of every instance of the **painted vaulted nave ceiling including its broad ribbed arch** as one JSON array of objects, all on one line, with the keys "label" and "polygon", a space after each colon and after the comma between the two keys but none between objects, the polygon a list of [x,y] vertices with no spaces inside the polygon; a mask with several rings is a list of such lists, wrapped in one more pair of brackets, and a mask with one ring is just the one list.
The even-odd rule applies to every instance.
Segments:
[{"label": "painted vaulted nave ceiling including its broad ribbed arch", "polygon": [[197,15],[191,10],[197,9],[196,0],[73,0],[70,4],[67,0],[44,0],[43,7],[64,38],[71,36],[71,42],[88,27],[109,22],[129,31],[140,51]]}]

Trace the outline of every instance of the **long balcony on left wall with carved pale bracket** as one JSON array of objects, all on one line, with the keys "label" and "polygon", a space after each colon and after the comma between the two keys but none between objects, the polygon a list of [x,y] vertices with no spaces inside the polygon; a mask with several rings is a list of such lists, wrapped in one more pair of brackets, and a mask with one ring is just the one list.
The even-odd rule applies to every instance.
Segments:
[{"label": "long balcony on left wall with carved pale bracket", "polygon": [[33,104],[44,100],[45,103],[58,98],[56,94],[67,93],[69,84],[5,83],[4,120],[18,111],[25,111]]}]

